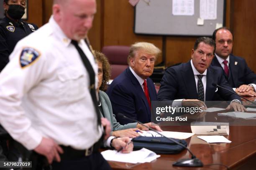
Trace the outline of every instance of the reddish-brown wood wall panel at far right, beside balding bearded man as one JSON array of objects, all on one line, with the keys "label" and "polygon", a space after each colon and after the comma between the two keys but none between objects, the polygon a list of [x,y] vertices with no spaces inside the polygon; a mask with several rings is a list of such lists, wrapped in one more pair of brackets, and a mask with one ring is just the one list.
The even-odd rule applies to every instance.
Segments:
[{"label": "reddish-brown wood wall panel at far right, beside balding bearded man", "polygon": [[233,0],[233,53],[256,72],[256,0]]}]

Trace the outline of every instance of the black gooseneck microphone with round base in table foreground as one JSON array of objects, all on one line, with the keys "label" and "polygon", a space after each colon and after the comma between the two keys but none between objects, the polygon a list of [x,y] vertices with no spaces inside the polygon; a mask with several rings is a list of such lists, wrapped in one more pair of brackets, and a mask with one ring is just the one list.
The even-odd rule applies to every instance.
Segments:
[{"label": "black gooseneck microphone with round base in table foreground", "polygon": [[181,166],[181,167],[202,167],[203,166],[203,163],[200,159],[196,158],[196,156],[183,144],[177,142],[176,140],[173,140],[172,138],[167,138],[166,136],[162,135],[161,133],[157,132],[156,130],[154,130],[153,128],[149,127],[149,126],[146,126],[144,125],[142,122],[138,121],[138,120],[135,120],[135,119],[131,119],[125,115],[123,115],[122,113],[118,113],[118,116],[120,117],[123,117],[125,119],[128,119],[128,120],[132,120],[133,122],[137,122],[139,123],[140,125],[154,131],[155,133],[163,136],[164,138],[166,138],[167,140],[170,140],[174,143],[177,143],[178,145],[182,146],[183,148],[187,149],[189,151],[189,153],[192,155],[191,158],[187,158],[187,159],[181,159],[181,160],[178,160],[177,162],[173,163],[172,165],[173,166]]}]

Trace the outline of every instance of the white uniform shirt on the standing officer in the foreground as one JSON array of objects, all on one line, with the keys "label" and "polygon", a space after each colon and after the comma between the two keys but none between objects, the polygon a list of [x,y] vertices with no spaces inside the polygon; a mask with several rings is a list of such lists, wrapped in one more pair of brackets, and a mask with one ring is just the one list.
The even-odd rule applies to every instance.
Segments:
[{"label": "white uniform shirt on the standing officer in the foreground", "polygon": [[[42,137],[76,149],[91,147],[102,135],[91,99],[90,77],[71,40],[53,17],[20,40],[0,74],[0,123],[29,150]],[[79,46],[95,71],[97,65],[84,40]],[[40,56],[21,68],[20,54],[31,47]]]}]

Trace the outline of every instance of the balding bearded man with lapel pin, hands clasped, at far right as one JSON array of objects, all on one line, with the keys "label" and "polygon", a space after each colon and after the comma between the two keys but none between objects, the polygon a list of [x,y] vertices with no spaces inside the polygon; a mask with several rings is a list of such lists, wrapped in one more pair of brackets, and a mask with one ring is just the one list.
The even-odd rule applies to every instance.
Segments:
[{"label": "balding bearded man with lapel pin, hands clasped, at far right", "polygon": [[231,54],[233,35],[228,28],[216,29],[212,34],[216,42],[215,57],[211,65],[222,68],[223,75],[231,87],[242,96],[256,96],[256,75],[242,57]]}]

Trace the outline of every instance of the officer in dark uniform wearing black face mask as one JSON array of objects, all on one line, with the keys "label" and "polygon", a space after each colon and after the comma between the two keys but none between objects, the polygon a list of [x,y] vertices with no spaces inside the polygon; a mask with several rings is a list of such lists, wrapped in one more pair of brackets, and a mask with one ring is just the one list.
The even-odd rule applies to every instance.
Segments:
[{"label": "officer in dark uniform wearing black face mask", "polygon": [[[9,55],[17,42],[38,29],[36,25],[21,20],[25,13],[26,0],[4,0],[3,7],[5,18],[0,20],[0,72],[9,62]],[[0,125],[0,161],[18,158],[19,153],[13,146],[13,140]]]}]

